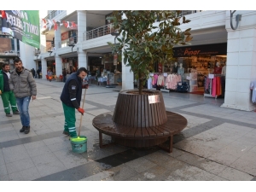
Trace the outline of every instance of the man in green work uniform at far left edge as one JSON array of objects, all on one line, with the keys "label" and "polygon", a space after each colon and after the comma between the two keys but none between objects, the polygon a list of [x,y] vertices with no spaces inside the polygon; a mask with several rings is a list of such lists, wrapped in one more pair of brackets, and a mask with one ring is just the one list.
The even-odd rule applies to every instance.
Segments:
[{"label": "man in green work uniform at far left edge", "polygon": [[20,112],[17,109],[15,94],[9,89],[9,64],[3,63],[2,68],[3,70],[0,70],[0,95],[2,97],[3,108],[6,116],[12,117],[9,104],[14,114],[20,114]]}]

